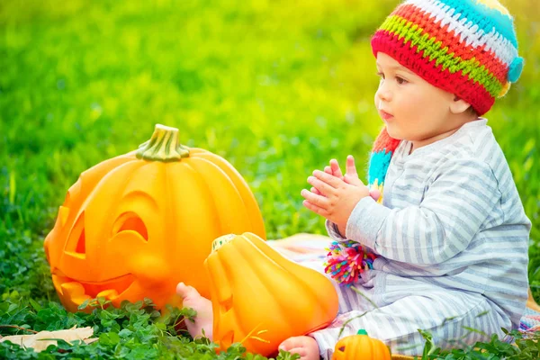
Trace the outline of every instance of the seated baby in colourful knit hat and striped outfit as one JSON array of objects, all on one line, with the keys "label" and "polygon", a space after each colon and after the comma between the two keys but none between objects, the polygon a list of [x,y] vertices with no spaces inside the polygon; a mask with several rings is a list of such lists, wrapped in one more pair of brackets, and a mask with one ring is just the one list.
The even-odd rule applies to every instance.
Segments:
[{"label": "seated baby in colourful knit hat and striped outfit", "polygon": [[[334,283],[328,328],[281,344],[302,360],[329,359],[358,329],[410,356],[422,353],[419,329],[442,348],[489,341],[518,328],[527,301],[531,223],[481,117],[523,67],[508,10],[496,0],[409,0],[371,43],[385,127],[368,185],[349,156],[345,175],[332,160],[302,196],[340,246],[352,240],[374,261],[355,289]],[[211,302],[184,284],[177,293],[199,311],[190,333],[211,337]]]}]

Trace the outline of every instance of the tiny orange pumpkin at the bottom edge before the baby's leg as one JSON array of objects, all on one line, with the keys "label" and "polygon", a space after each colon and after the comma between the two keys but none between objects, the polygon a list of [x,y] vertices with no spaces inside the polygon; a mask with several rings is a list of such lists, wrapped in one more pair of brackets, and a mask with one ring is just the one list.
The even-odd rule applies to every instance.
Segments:
[{"label": "tiny orange pumpkin at the bottom edge before the baby's leg", "polygon": [[342,338],[336,344],[332,360],[391,360],[383,341],[370,338],[364,329],[357,335]]}]

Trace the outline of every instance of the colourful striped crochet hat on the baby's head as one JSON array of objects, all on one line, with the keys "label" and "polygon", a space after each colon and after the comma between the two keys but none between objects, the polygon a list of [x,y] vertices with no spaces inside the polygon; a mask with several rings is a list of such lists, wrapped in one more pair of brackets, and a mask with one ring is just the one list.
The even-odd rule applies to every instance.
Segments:
[{"label": "colourful striped crochet hat on the baby's head", "polygon": [[482,115],[518,81],[514,20],[497,0],[408,0],[374,34],[402,66],[471,103]]}]

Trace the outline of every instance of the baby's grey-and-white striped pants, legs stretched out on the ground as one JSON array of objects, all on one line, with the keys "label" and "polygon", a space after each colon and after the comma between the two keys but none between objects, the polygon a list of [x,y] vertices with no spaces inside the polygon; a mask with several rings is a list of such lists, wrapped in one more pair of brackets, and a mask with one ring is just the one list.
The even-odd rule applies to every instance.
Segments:
[{"label": "baby's grey-and-white striped pants, legs stretched out on the ground", "polygon": [[[320,262],[304,263],[322,272]],[[355,290],[332,280],[339,298],[337,318],[326,329],[309,334],[320,347],[320,356],[330,359],[338,339],[365,329],[382,340],[392,354],[419,356],[425,338],[433,337],[443,349],[489,341],[491,334],[504,337],[501,328],[511,329],[508,317],[480,294],[465,293],[426,284],[415,279],[372,270],[363,274]]]}]

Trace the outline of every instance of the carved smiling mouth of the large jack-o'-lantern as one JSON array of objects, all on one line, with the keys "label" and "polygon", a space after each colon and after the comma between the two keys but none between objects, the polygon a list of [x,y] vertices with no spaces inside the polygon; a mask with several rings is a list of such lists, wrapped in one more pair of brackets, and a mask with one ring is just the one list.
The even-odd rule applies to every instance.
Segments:
[{"label": "carved smiling mouth of the large jack-o'-lantern", "polygon": [[76,303],[82,303],[98,296],[114,300],[128,290],[135,280],[134,275],[127,274],[103,282],[81,282],[62,274],[58,269],[52,272],[52,282],[57,290],[64,295],[69,295],[71,300]]}]

